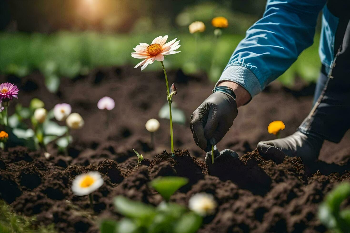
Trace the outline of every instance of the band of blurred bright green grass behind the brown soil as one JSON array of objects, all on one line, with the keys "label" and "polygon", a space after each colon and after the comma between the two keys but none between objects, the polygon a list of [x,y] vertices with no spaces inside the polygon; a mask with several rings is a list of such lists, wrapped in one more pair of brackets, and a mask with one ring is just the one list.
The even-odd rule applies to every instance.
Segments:
[{"label": "band of blurred bright green grass behind the brown soil", "polygon": [[[59,82],[59,77],[73,78],[79,74],[87,74],[91,69],[106,66],[136,65],[141,60],[130,56],[135,45],[140,42],[151,43],[161,34],[99,34],[97,32],[68,32],[54,34],[0,34],[0,72],[14,74],[19,77],[39,70],[47,79],[47,83]],[[169,39],[180,39],[181,53],[165,59],[168,70],[181,68],[186,74],[200,70],[206,72],[215,82],[236,48],[243,35],[225,34],[214,46],[214,36],[203,35],[198,38],[189,33],[172,32]],[[286,86],[294,83],[295,77],[313,82],[320,69],[318,58],[319,36],[315,36],[314,44],[306,49],[299,59],[279,78]],[[196,49],[198,48],[198,50]],[[214,69],[210,70],[214,56]],[[147,70],[161,70],[160,64],[153,64]],[[54,85],[54,84],[53,84]]]}]

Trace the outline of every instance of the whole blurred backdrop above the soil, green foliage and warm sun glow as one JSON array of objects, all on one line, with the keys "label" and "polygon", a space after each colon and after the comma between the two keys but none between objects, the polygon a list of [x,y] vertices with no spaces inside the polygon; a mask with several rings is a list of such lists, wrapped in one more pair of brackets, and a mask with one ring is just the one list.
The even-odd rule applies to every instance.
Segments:
[{"label": "whole blurred backdrop above the soil, green foliage and warm sun glow", "polygon": [[[54,92],[61,77],[72,78],[101,66],[135,65],[130,56],[140,42],[159,35],[181,40],[180,54],[166,59],[168,68],[186,74],[205,71],[215,82],[245,31],[264,12],[266,0],[0,0],[0,72],[19,77],[34,70]],[[224,16],[229,27],[214,46],[211,19]],[[198,45],[188,25],[203,21]],[[319,26],[315,43],[279,80],[317,79]],[[196,50],[198,48],[198,50]],[[214,68],[210,70],[214,57]],[[149,66],[147,70],[161,70]]]}]

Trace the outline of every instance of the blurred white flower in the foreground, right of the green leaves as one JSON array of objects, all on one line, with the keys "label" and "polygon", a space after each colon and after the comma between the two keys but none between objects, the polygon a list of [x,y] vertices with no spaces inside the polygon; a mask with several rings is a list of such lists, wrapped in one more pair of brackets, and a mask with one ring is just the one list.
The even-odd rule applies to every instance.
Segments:
[{"label": "blurred white flower in the foreground, right of the green leaves", "polygon": [[205,192],[193,195],[188,201],[189,209],[202,216],[214,213],[216,206],[214,196]]}]

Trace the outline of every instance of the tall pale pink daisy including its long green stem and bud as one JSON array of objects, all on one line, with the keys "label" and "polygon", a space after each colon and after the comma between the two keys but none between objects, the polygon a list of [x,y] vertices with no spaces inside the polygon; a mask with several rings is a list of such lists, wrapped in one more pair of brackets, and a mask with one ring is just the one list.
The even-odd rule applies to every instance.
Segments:
[{"label": "tall pale pink daisy including its long green stem and bud", "polygon": [[173,139],[173,121],[172,121],[172,94],[169,91],[168,77],[167,72],[163,64],[164,56],[179,53],[181,51],[175,51],[180,48],[180,41],[176,41],[177,38],[166,43],[168,35],[159,36],[155,38],[150,45],[146,43],[140,43],[134,48],[135,52],[131,53],[131,56],[134,58],[140,58],[145,60],[141,61],[134,68],[141,66],[141,71],[144,70],[148,64],[152,64],[154,60],[160,61],[163,67],[165,82],[167,85],[167,100],[169,104],[169,113],[170,113],[170,144],[172,154],[174,155],[174,139]]}]

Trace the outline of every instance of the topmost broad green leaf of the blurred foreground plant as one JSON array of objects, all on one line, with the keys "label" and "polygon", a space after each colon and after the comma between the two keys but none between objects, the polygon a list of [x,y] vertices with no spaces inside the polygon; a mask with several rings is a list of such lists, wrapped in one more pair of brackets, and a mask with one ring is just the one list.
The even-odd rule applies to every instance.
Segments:
[{"label": "topmost broad green leaf of the blurred foreground plant", "polygon": [[164,176],[158,177],[149,183],[166,201],[169,201],[170,196],[172,196],[176,190],[188,183],[188,179],[179,176]]}]

